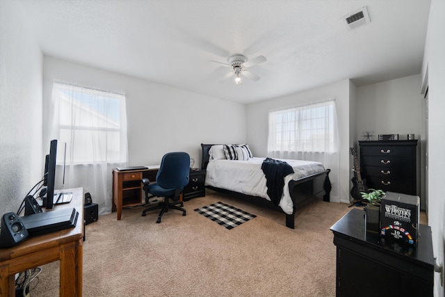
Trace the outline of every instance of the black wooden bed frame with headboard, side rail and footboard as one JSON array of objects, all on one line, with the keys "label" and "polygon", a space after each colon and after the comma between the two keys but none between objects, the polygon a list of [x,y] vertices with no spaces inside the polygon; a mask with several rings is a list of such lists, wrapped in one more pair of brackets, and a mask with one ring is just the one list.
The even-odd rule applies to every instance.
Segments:
[{"label": "black wooden bed frame with headboard, side rail and footboard", "polygon": [[[202,163],[201,168],[206,169],[207,164],[209,163],[209,150],[212,145],[201,144],[202,147]],[[330,201],[330,191],[331,191],[331,182],[329,179],[330,169],[326,169],[323,172],[318,172],[314,175],[309,175],[307,177],[302,177],[300,179],[293,179],[289,182],[289,193],[291,194],[291,199],[293,202],[293,212],[292,214],[286,214],[280,207],[275,206],[272,202],[259,198],[256,196],[245,195],[241,193],[236,193],[233,191],[229,191],[223,188],[215,188],[213,186],[207,186],[207,188],[211,188],[214,191],[220,191],[223,193],[232,193],[234,195],[244,197],[244,198],[253,198],[253,200],[257,200],[261,204],[264,202],[268,203],[270,207],[273,209],[278,209],[282,211],[286,215],[286,227],[291,229],[295,228],[295,215],[296,211],[302,209],[306,204],[311,202],[314,198],[322,197],[323,200],[329,202]]]}]

